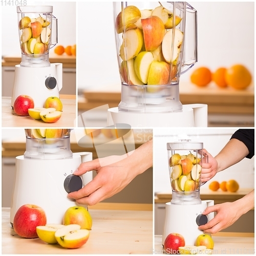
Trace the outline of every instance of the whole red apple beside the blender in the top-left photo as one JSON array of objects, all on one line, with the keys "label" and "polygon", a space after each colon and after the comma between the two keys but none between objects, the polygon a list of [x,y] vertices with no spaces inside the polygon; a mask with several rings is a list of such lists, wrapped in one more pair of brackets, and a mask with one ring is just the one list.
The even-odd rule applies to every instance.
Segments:
[{"label": "whole red apple beside the blender in the top-left photo", "polygon": [[29,109],[34,108],[34,100],[28,95],[19,95],[14,103],[13,110],[19,116],[29,116]]}]

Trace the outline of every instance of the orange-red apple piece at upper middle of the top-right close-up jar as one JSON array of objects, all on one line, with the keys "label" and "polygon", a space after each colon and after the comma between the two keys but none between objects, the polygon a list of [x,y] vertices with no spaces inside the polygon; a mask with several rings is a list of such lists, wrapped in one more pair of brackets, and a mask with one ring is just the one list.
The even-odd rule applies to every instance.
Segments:
[{"label": "orange-red apple piece at upper middle of the top-right close-up jar", "polygon": [[146,51],[154,51],[164,38],[164,24],[157,16],[141,19],[143,38]]}]

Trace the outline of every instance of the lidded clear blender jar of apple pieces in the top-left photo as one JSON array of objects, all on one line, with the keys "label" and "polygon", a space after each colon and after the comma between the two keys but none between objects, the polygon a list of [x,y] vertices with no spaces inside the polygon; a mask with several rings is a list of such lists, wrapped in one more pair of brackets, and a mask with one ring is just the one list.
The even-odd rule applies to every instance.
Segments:
[{"label": "lidded clear blender jar of apple pieces in the top-left photo", "polygon": [[52,6],[17,6],[20,66],[50,66],[49,50],[57,44],[57,19],[52,11]]}]

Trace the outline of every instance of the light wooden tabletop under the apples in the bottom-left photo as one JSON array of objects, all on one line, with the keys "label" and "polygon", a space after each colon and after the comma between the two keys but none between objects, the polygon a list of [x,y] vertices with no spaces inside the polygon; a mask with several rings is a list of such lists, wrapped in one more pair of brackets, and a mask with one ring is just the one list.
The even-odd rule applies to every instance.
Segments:
[{"label": "light wooden tabletop under the apples in the bottom-left photo", "polygon": [[152,211],[89,211],[93,219],[89,240],[71,250],[39,238],[20,238],[10,225],[10,208],[2,208],[2,254],[152,254]]}]

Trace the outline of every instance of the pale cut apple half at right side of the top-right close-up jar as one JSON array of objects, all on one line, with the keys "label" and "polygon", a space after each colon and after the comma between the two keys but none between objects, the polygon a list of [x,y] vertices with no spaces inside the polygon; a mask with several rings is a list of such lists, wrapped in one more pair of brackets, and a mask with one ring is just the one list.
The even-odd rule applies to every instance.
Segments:
[{"label": "pale cut apple half at right side of the top-right close-up jar", "polygon": [[[174,41],[173,41],[173,33],[174,33]],[[177,59],[181,50],[182,42],[183,42],[183,33],[179,29],[170,29],[167,31],[162,41],[162,53],[166,62],[168,63],[177,62]]]}]

